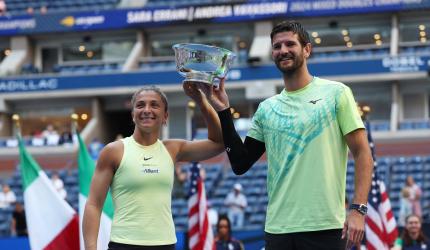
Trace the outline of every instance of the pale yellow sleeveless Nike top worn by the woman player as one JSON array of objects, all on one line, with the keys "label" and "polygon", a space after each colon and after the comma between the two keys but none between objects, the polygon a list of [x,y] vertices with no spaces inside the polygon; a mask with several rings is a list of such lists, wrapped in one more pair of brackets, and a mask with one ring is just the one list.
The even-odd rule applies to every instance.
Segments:
[{"label": "pale yellow sleeveless Nike top worn by the woman player", "polygon": [[174,163],[157,140],[150,146],[122,139],[124,154],[111,184],[115,213],[111,241],[154,246],[176,243],[171,199]]}]

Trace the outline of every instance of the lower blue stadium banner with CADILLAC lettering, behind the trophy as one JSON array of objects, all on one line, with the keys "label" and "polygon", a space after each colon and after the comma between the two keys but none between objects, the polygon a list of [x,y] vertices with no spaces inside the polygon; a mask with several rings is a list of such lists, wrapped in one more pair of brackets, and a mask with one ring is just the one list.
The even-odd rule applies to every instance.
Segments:
[{"label": "lower blue stadium banner with CADILLAC lettering, behind the trophy", "polygon": [[[311,74],[317,76],[348,76],[425,72],[430,67],[430,56],[398,56],[374,60],[337,62],[309,62]],[[273,65],[236,67],[229,72],[229,81],[281,79]],[[176,71],[132,72],[80,76],[37,78],[0,78],[0,93],[52,91],[122,86],[180,84],[183,78]]]}]

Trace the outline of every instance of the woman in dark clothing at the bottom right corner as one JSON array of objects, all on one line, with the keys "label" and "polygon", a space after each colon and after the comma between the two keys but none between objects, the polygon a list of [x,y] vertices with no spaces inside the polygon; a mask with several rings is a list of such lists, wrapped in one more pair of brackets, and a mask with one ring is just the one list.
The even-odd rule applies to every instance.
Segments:
[{"label": "woman in dark clothing at the bottom right corner", "polygon": [[415,214],[406,217],[402,237],[396,240],[393,249],[425,250],[430,249],[430,242],[421,230],[421,219]]}]

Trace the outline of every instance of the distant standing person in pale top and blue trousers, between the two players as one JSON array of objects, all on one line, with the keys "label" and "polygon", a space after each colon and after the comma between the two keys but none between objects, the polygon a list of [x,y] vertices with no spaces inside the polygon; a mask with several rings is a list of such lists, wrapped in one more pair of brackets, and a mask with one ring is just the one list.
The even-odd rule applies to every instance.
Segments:
[{"label": "distant standing person in pale top and blue trousers, between the two players", "polygon": [[233,186],[233,192],[228,193],[224,204],[228,207],[228,218],[232,222],[234,229],[243,227],[245,208],[248,205],[245,195],[242,193],[242,185],[236,183]]}]

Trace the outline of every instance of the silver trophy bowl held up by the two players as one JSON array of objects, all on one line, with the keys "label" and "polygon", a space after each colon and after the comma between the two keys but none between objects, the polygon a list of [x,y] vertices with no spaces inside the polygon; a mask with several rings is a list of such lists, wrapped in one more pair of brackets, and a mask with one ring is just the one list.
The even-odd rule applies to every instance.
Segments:
[{"label": "silver trophy bowl held up by the two players", "polygon": [[184,81],[204,82],[218,86],[236,55],[223,48],[204,44],[180,43],[173,45],[176,69]]}]

